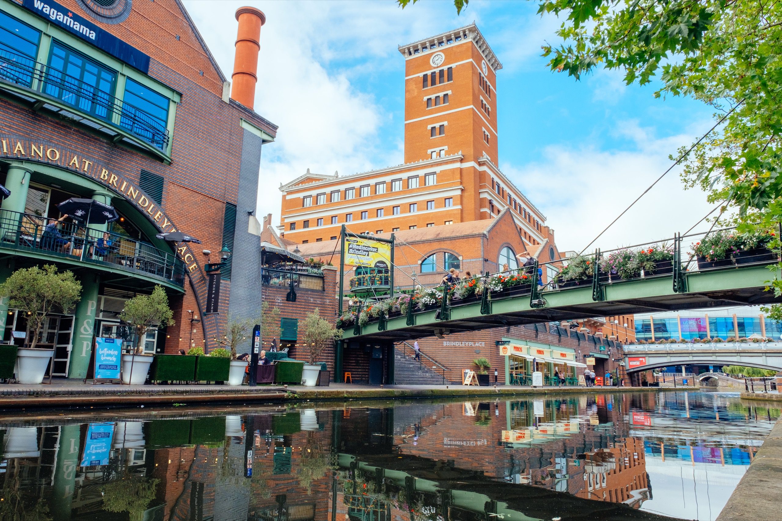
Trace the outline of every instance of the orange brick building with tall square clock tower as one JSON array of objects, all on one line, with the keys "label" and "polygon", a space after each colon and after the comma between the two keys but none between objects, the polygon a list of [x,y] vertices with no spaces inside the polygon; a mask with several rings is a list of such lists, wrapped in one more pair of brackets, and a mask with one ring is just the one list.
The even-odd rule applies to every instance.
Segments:
[{"label": "orange brick building with tall square clock tower", "polygon": [[[405,60],[404,163],[350,176],[306,173],[282,184],[281,233],[334,240],[345,224],[375,234],[511,213],[522,241],[554,243],[546,217],[497,165],[497,71],[475,24],[399,48]],[[512,266],[511,266],[512,267]]]}]

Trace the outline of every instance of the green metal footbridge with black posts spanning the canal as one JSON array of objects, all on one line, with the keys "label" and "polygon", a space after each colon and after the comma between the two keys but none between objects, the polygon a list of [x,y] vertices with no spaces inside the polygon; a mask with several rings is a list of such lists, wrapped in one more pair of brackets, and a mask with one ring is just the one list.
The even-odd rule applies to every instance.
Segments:
[{"label": "green metal footbridge with black posts spanning the canal", "polygon": [[[579,285],[541,287],[536,280],[536,263],[528,272],[531,284],[483,291],[480,298],[472,301],[443,298],[429,309],[409,306],[405,314],[382,314],[363,327],[356,320],[353,326],[343,326],[343,341],[393,342],[529,323],[782,302],[782,298],[767,290],[770,280],[782,277],[777,252],[766,250],[754,258],[704,262],[698,266],[700,262],[691,262],[683,253],[682,237],[675,237],[673,242],[673,260],[669,262],[672,266],[658,271],[669,273],[640,273],[629,280],[618,280],[597,268],[591,280],[582,280]],[[595,252],[595,266],[599,266],[601,255],[604,254]]]}]

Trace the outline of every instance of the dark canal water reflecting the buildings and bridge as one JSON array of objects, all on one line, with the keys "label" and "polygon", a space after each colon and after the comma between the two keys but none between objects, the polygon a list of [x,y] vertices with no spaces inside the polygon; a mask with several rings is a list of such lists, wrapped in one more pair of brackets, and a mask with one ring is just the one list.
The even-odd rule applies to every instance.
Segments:
[{"label": "dark canal water reflecting the buildings and bridge", "polygon": [[716,519],[780,415],[737,394],[0,418],[0,521]]}]

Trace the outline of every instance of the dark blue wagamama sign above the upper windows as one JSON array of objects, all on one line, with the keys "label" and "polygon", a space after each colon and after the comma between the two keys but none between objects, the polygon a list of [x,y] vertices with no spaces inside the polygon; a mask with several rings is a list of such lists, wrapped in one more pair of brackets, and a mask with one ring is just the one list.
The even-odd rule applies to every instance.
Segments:
[{"label": "dark blue wagamama sign above the upper windows", "polygon": [[101,29],[94,23],[84,20],[70,9],[59,5],[52,0],[23,0],[23,7],[34,12],[48,23],[65,30],[67,33],[74,34],[82,40],[88,41],[97,48],[101,48],[121,59],[128,65],[134,66],[142,73],[149,73],[149,56],[139,51],[137,48],[127,45],[120,38],[114,36],[106,30]]}]

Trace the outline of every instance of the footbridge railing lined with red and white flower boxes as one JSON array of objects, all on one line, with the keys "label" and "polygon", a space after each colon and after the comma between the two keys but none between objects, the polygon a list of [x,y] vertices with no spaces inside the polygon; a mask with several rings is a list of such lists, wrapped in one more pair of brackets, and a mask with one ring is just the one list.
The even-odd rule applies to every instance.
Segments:
[{"label": "footbridge railing lined with red and white flower boxes", "polygon": [[530,307],[539,309],[546,307],[547,293],[574,287],[590,287],[593,300],[603,301],[608,286],[652,278],[672,280],[673,291],[687,293],[688,273],[780,262],[779,249],[771,249],[771,244],[779,242],[777,234],[782,235],[782,230],[739,234],[735,228],[722,228],[547,262],[518,258],[522,266],[516,266],[517,259],[508,259],[514,266],[506,265],[499,273],[487,272],[437,287],[421,286],[411,294],[361,304],[339,317],[339,325],[353,326],[353,334],[359,335],[368,323],[377,322],[378,330],[385,330],[386,319],[394,316],[407,315],[407,326],[413,326],[415,314],[432,309],[439,309],[436,320],[447,320],[450,308],[477,302],[481,314],[488,315],[491,301],[503,298],[528,297]]}]

